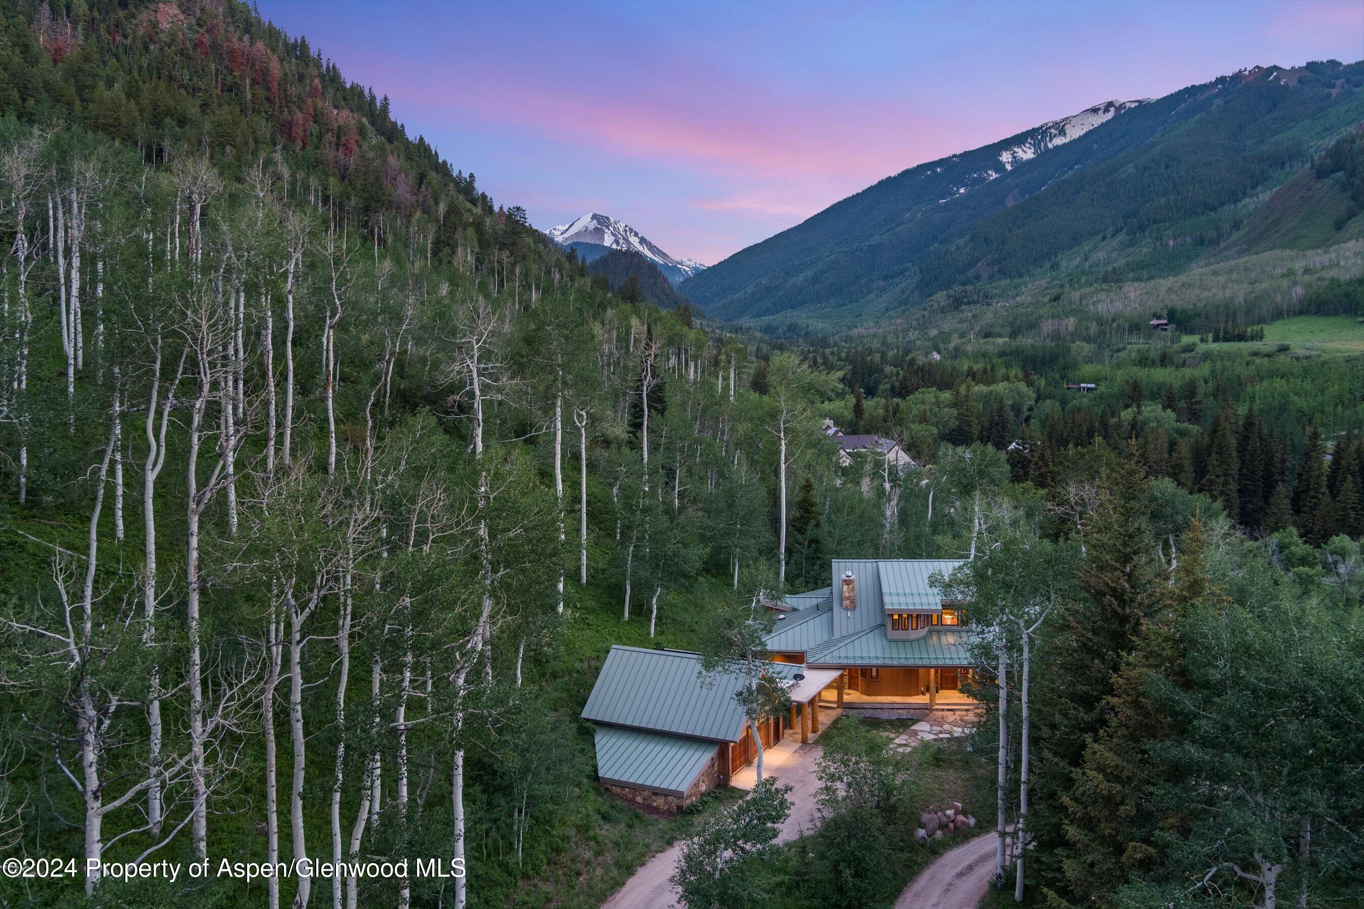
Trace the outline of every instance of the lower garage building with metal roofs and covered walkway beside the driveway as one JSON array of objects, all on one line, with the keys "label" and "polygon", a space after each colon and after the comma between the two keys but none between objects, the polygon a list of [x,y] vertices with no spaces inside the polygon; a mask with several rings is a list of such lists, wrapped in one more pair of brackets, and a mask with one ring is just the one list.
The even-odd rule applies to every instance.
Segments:
[{"label": "lower garage building with metal roofs and covered walkway beside the driveway", "polygon": [[[758,724],[762,747],[792,730],[797,714],[806,736],[810,702],[840,673],[791,662],[765,668],[787,685],[792,710]],[[602,784],[627,801],[677,811],[727,782],[757,755],[737,696],[745,684],[738,671],[705,672],[696,653],[612,646],[582,707],[595,726]]]}]

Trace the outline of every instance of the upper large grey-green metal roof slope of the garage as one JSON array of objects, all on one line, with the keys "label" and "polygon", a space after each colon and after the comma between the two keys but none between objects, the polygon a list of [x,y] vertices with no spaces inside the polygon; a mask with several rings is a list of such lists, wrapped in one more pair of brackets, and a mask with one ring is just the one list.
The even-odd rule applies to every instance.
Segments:
[{"label": "upper large grey-green metal roof slope of the garage", "polygon": [[[801,671],[795,664],[767,666],[784,679]],[[739,673],[704,673],[701,656],[696,653],[612,645],[582,707],[582,718],[674,736],[738,741],[743,707],[734,695],[742,687]]]}]

